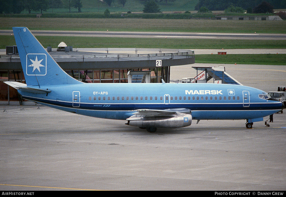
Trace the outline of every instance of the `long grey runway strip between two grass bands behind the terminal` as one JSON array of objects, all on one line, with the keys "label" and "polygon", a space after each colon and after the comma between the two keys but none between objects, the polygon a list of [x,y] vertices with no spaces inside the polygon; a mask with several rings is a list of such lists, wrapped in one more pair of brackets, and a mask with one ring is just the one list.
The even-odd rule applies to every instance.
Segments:
[{"label": "long grey runway strip between two grass bands behind the terminal", "polygon": [[[134,37],[186,39],[259,39],[286,40],[286,34],[267,33],[193,33],[193,32],[132,32],[132,31],[47,31],[32,30],[35,36]],[[11,35],[12,30],[0,30],[0,35]]]}]

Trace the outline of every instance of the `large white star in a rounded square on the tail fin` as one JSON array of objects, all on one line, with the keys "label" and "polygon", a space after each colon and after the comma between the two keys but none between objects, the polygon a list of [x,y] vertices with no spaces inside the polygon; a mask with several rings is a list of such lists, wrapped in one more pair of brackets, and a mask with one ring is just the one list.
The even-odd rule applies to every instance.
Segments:
[{"label": "large white star in a rounded square on the tail fin", "polygon": [[47,74],[47,55],[29,53],[26,58],[27,75],[43,76]]}]

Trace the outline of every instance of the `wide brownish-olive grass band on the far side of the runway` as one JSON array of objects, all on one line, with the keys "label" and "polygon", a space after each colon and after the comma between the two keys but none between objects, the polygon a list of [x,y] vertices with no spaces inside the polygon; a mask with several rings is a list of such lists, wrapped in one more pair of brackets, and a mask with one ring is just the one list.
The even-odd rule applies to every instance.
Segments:
[{"label": "wide brownish-olive grass band on the far side of the runway", "polygon": [[0,18],[0,29],[286,33],[286,21],[197,19]]}]

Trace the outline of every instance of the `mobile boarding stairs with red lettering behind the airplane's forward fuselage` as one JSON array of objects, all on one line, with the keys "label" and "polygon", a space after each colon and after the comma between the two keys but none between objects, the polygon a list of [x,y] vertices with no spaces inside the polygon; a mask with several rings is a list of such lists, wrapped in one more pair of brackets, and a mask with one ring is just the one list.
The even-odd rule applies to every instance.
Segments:
[{"label": "mobile boarding stairs with red lettering behind the airplane's forward fuselage", "polygon": [[242,85],[234,79],[231,75],[225,72],[224,66],[218,67],[197,67],[193,66],[192,68],[196,69],[197,75],[194,78],[196,83],[226,83],[226,84],[237,84]]}]

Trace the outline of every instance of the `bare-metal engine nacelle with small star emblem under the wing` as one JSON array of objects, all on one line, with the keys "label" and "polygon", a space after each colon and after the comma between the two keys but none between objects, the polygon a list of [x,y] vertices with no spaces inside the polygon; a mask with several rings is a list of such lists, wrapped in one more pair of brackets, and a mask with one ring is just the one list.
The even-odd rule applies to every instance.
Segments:
[{"label": "bare-metal engine nacelle with small star emblem under the wing", "polygon": [[128,125],[137,127],[156,128],[181,128],[192,124],[192,115],[181,116],[154,116],[154,117],[130,117],[127,119]]}]

